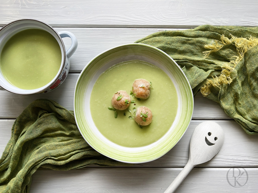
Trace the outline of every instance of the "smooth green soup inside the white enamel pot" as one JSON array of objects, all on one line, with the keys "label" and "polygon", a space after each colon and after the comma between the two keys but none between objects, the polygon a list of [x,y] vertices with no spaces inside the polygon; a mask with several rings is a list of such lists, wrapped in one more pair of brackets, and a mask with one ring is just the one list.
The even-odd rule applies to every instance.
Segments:
[{"label": "smooth green soup inside the white enamel pot", "polygon": [[48,84],[58,73],[62,54],[56,39],[41,29],[26,29],[3,47],[0,68],[5,79],[21,89]]}]

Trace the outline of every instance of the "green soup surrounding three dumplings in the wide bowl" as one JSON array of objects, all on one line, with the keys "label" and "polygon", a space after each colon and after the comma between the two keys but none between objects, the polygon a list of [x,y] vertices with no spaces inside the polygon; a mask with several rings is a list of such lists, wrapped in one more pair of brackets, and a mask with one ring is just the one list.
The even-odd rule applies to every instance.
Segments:
[{"label": "green soup surrounding three dumplings in the wide bowl", "polygon": [[[128,118],[131,113],[127,110],[117,110],[115,118],[114,111],[108,109],[112,107],[114,93],[126,90],[130,94],[136,79],[151,81],[154,88],[146,100],[139,101],[129,95],[136,101],[136,105],[130,104],[131,111],[133,107],[146,106],[153,113],[153,121],[143,128]],[[169,76],[153,64],[138,60],[116,64],[103,72],[95,82],[90,98],[91,116],[97,129],[110,141],[125,147],[149,145],[165,135],[175,120],[177,104],[176,89]]]}]

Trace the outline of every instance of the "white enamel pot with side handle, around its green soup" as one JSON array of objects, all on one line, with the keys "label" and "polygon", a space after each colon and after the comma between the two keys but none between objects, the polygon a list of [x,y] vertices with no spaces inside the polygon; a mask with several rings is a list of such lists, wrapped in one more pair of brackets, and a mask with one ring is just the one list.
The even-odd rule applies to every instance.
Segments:
[{"label": "white enamel pot with side handle, around its green soup", "polygon": [[[38,21],[36,19],[20,19],[13,21],[11,23],[8,23],[3,28],[0,29],[0,55],[3,50],[3,47],[5,46],[5,43],[15,34],[17,34],[20,31],[23,31],[25,29],[42,29],[50,33],[58,42],[60,46],[60,50],[62,53],[62,60],[60,64],[60,68],[58,70],[58,73],[56,76],[45,86],[42,86],[37,89],[32,90],[25,90],[21,88],[17,88],[16,86],[13,86],[8,82],[5,77],[3,76],[1,69],[0,69],[0,86],[9,91],[13,92],[15,94],[36,94],[36,93],[46,93],[51,90],[54,90],[57,88],[64,79],[66,78],[69,68],[70,68],[70,57],[75,52],[78,42],[76,37],[69,31],[60,31],[56,32],[51,26],[48,24]],[[62,41],[62,38],[69,37],[72,40],[71,47],[67,50],[64,46],[64,42]]]}]

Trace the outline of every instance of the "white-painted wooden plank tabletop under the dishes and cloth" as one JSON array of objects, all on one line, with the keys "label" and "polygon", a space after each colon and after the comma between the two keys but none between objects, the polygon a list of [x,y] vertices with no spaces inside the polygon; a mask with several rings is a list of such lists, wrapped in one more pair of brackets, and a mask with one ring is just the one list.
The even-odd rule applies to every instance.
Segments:
[{"label": "white-painted wooden plank tabletop under the dishes and cloth", "polygon": [[[73,110],[79,73],[100,52],[161,30],[203,24],[258,26],[257,9],[256,0],[1,0],[0,27],[16,19],[39,19],[56,31],[71,31],[78,48],[71,57],[67,79],[56,90],[33,96],[0,91],[0,155],[15,118],[35,99],[52,99]],[[65,44],[69,47],[69,39]],[[193,118],[185,135],[163,157],[134,167],[91,166],[67,172],[39,169],[32,176],[30,192],[164,192],[188,160],[194,128],[206,120],[224,129],[222,149],[212,160],[194,168],[176,192],[258,192],[258,136],[245,134],[219,105],[200,93],[194,99]],[[228,184],[226,176],[232,167],[247,171],[244,186]]]}]

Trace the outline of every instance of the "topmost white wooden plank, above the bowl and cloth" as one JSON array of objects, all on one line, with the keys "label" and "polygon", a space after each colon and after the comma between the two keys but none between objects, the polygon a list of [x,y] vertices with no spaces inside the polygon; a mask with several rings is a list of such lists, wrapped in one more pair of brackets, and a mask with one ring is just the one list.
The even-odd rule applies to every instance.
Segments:
[{"label": "topmost white wooden plank, above the bowl and cloth", "polygon": [[16,19],[33,18],[60,27],[257,26],[257,8],[255,0],[4,0],[0,4],[0,23],[4,25]]}]

